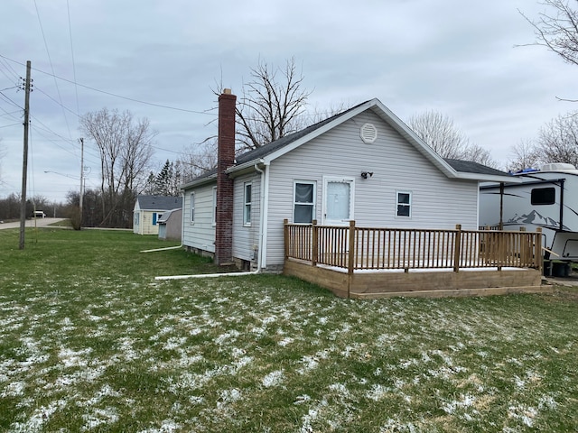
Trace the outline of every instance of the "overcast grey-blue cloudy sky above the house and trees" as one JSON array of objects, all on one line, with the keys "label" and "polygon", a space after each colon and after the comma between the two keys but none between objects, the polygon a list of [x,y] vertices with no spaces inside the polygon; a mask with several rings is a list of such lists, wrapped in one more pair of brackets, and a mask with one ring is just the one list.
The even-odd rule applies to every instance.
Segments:
[{"label": "overcast grey-blue cloudy sky above the house and trees", "polygon": [[[211,88],[240,94],[259,59],[294,57],[318,111],[373,97],[404,121],[435,110],[505,165],[511,146],[575,109],[556,97],[578,97],[578,68],[515,48],[535,40],[518,11],[544,10],[535,0],[2,0],[0,198],[21,190],[24,93],[14,87],[26,60],[28,196],[64,201],[79,189],[79,115],[103,107],[147,117],[155,164],[175,160],[216,134]],[[87,188],[98,187],[89,141],[85,166]]]}]

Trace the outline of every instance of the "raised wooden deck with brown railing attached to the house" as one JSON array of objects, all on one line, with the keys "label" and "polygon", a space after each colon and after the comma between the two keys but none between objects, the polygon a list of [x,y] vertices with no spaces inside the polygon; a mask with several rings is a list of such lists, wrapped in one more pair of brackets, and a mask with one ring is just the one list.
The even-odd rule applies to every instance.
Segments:
[{"label": "raised wooden deck with brown railing attached to the house", "polygon": [[354,299],[543,292],[540,252],[539,232],[285,223],[284,273]]}]

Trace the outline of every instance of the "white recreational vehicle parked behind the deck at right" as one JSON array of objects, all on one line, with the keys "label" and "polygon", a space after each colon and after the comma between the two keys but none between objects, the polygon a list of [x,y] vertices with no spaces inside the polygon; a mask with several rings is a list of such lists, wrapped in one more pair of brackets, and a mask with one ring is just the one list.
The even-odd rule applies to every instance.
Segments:
[{"label": "white recreational vehicle parked behind the deck at right", "polygon": [[480,226],[541,227],[545,260],[578,262],[578,170],[551,163],[513,176],[521,182],[480,186]]}]

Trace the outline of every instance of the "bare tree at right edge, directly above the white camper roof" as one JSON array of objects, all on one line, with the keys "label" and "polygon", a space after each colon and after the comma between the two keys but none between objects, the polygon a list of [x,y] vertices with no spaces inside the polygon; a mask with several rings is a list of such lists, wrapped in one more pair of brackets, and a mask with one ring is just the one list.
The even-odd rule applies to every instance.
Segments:
[{"label": "bare tree at right edge, directly above the white camper roof", "polygon": [[538,133],[536,153],[541,162],[567,162],[578,167],[578,112],[559,115]]}]

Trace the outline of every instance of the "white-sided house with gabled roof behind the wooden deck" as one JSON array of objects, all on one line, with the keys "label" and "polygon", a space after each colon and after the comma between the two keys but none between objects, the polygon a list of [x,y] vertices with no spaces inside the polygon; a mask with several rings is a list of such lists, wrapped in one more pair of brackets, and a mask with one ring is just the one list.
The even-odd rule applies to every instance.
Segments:
[{"label": "white-sided house with gabled roof behind the wooden deck", "polygon": [[[284,218],[476,229],[479,181],[507,179],[480,164],[444,160],[378,99],[238,155],[226,173],[234,182],[232,259],[269,271],[284,264]],[[182,186],[185,213],[193,196],[195,212],[183,244],[213,253],[216,185],[213,171]]]}]

